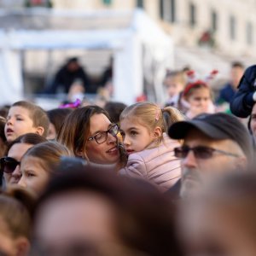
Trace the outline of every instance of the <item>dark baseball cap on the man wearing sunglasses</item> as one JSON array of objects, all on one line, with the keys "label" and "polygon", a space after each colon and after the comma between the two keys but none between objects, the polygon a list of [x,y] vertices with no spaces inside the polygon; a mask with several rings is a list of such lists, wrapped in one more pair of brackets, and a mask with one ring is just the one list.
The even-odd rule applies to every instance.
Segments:
[{"label": "dark baseball cap on the man wearing sunglasses", "polygon": [[173,124],[168,134],[173,139],[185,138],[191,129],[197,129],[216,140],[235,141],[242,151],[250,157],[253,153],[253,138],[245,125],[235,116],[226,113],[201,113],[194,119]]}]

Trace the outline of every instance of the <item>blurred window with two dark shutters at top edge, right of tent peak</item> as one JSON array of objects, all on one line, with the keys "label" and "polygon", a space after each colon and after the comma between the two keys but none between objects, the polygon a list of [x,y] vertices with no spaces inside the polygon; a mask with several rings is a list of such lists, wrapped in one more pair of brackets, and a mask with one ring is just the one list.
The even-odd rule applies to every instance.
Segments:
[{"label": "blurred window with two dark shutters at top edge, right of tent peak", "polygon": [[160,0],[160,17],[162,20],[176,22],[176,0]]}]

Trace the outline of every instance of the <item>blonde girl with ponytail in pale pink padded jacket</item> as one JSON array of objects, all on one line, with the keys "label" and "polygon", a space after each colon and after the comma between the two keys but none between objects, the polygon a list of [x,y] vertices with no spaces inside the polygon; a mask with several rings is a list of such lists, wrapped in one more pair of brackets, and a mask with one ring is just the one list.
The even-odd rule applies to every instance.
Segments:
[{"label": "blonde girl with ponytail in pale pink padded jacket", "polygon": [[120,129],[128,162],[119,174],[147,179],[162,191],[172,187],[180,177],[180,160],[173,153],[180,143],[167,137],[166,131],[183,119],[177,108],[161,109],[151,102],[125,108],[120,115]]}]

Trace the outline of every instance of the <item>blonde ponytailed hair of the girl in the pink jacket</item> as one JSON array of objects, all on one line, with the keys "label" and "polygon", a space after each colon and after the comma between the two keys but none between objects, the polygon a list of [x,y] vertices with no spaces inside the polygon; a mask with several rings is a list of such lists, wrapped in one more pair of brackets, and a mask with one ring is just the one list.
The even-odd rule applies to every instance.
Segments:
[{"label": "blonde ponytailed hair of the girl in the pink jacket", "polygon": [[185,117],[174,107],[160,108],[153,102],[138,102],[124,109],[120,114],[120,121],[123,119],[134,119],[148,131],[154,131],[156,127],[160,127],[164,133],[172,124],[184,120]]}]

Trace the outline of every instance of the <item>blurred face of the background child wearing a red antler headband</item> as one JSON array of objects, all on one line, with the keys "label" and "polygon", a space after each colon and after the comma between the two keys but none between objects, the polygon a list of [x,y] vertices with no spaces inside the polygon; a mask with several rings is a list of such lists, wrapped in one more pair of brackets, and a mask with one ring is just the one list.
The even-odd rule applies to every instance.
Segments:
[{"label": "blurred face of the background child wearing a red antler headband", "polygon": [[209,104],[212,102],[210,90],[208,88],[198,88],[193,90],[187,102],[191,108],[200,108],[202,112],[207,112]]}]

